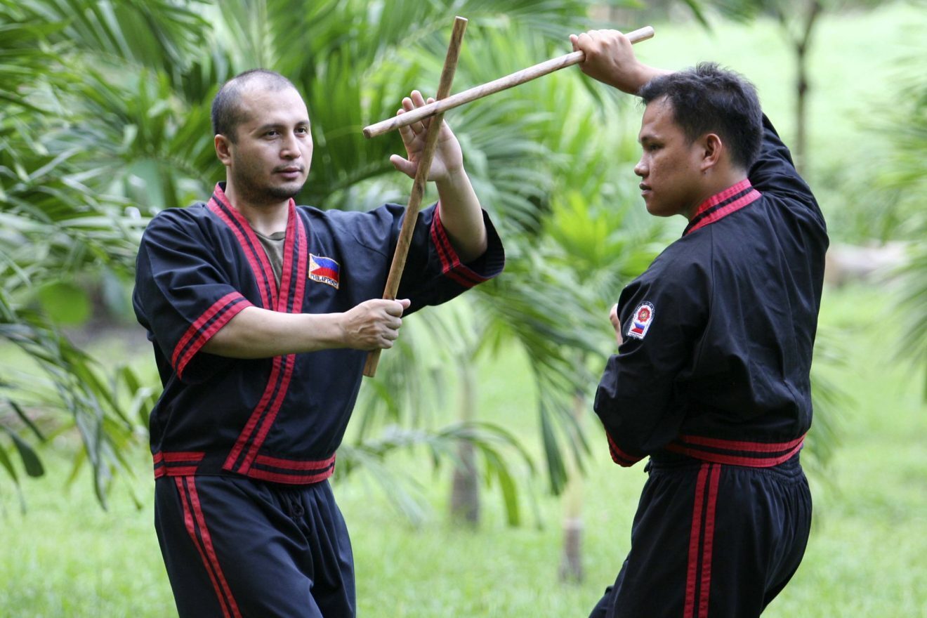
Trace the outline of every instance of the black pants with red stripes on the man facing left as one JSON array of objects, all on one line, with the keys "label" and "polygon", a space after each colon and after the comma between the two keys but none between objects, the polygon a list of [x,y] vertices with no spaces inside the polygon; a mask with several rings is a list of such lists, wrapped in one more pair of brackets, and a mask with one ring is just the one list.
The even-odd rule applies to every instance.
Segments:
[{"label": "black pants with red stripes on the man facing left", "polygon": [[590,618],[750,618],[805,555],[811,494],[798,455],[771,468],[649,464],[615,585]]}]

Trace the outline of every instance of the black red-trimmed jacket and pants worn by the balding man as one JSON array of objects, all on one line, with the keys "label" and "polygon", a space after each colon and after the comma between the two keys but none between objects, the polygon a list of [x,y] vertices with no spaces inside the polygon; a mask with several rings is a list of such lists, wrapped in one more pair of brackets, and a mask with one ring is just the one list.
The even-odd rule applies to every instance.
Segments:
[{"label": "black red-trimmed jacket and pants worn by the balding man", "polygon": [[[241,309],[347,311],[383,294],[404,209],[296,207],[280,282],[248,221],[216,186],[162,211],[137,259],[133,305],[164,393],[150,420],[156,528],[182,616],[352,616],[349,537],[326,479],[367,352],[231,359],[201,347]],[[409,314],[502,271],[498,234],[462,264],[438,208],[419,214],[399,297]]]}]

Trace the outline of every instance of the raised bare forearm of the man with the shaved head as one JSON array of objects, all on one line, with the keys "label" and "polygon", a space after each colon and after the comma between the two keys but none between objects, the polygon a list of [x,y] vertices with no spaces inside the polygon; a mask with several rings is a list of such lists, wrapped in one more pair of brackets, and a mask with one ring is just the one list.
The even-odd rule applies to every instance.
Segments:
[{"label": "raised bare forearm of the man with the shaved head", "polygon": [[479,258],[488,246],[483,209],[466,171],[451,171],[438,186],[441,224],[462,262]]}]

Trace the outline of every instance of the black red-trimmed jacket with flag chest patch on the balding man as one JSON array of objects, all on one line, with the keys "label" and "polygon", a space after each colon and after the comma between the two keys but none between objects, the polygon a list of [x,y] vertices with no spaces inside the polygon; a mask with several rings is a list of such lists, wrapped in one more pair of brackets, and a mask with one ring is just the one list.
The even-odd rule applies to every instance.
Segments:
[{"label": "black red-trimmed jacket with flag chest patch on the balding man", "polygon": [[[160,212],[138,252],[133,305],[164,385],[150,419],[155,474],[316,483],[334,469],[367,353],[229,359],[202,347],[249,306],[330,313],[382,297],[405,211],[323,211],[290,200],[278,285],[260,241],[222,189],[208,204]],[[502,271],[502,243],[484,221],[489,249],[464,264],[438,208],[419,213],[400,282],[399,297],[412,300],[407,313]]]}]

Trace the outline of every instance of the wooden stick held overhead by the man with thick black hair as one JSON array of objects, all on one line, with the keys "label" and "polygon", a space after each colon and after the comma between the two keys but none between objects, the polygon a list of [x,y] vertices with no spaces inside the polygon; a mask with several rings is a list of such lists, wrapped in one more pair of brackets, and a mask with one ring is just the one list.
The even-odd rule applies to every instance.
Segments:
[{"label": "wooden stick held overhead by the man with thick black hair", "polygon": [[[651,26],[644,26],[639,30],[633,32],[628,32],[626,35],[631,43],[639,43],[641,41],[646,41],[654,36],[654,29]],[[387,120],[381,120],[375,124],[371,124],[363,128],[363,134],[365,137],[375,137],[375,135],[381,135],[385,132],[392,131],[393,129],[399,129],[406,125],[417,122],[433,116],[435,114],[441,114],[446,112],[448,109],[453,107],[458,107],[464,105],[464,103],[470,103],[471,101],[476,101],[478,98],[482,98],[487,95],[492,95],[500,92],[501,90],[506,90],[513,86],[517,86],[520,83],[530,82],[531,80],[537,79],[542,75],[547,75],[552,73],[555,70],[564,69],[565,67],[572,67],[575,64],[579,64],[586,59],[586,54],[583,52],[572,52],[566,54],[565,56],[558,56],[551,58],[550,60],[545,60],[539,64],[536,64],[527,69],[521,69],[515,71],[510,75],[501,77],[498,80],[493,80],[492,82],[482,83],[478,86],[474,86],[464,92],[457,93],[456,95],[448,96],[447,98],[442,98],[434,103],[429,103],[426,106],[417,107],[412,111],[406,112],[400,116],[394,118],[388,118]]]}]

